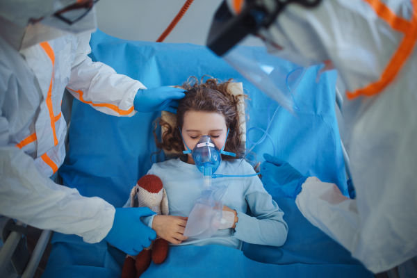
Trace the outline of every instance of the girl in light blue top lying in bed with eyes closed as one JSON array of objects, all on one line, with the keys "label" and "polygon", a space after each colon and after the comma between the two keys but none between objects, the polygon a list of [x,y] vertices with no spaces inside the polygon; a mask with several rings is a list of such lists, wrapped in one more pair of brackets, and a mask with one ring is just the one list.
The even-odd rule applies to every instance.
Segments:
[{"label": "girl in light blue top lying in bed with eyes closed", "polygon": [[[191,80],[191,82],[190,82]],[[211,136],[218,149],[233,152],[236,157],[224,156],[216,173],[253,174],[254,168],[243,161],[235,169],[244,154],[240,147],[239,99],[245,95],[234,96],[228,90],[231,81],[220,83],[217,79],[208,79],[199,83],[191,78],[182,88],[187,90],[186,97],[179,101],[177,126],[170,126],[161,118],[157,122],[165,126],[162,142],[156,145],[167,151],[182,153],[194,149],[201,136]],[[181,138],[181,129],[183,139]],[[229,136],[227,137],[227,130]],[[238,250],[242,242],[259,245],[281,246],[286,241],[288,227],[282,216],[284,213],[277,203],[265,191],[259,177],[231,178],[227,194],[224,197],[223,211],[234,213],[231,229],[219,229],[211,238],[195,239],[183,236],[187,216],[193,209],[195,199],[202,192],[202,172],[195,166],[191,154],[183,158],[171,159],[152,165],[148,174],[161,178],[169,200],[170,215],[152,215],[142,220],[156,231],[156,234],[174,245],[223,245]],[[224,178],[225,179],[225,178]],[[224,183],[224,179],[213,179],[212,183]],[[250,208],[252,216],[247,215]]]}]

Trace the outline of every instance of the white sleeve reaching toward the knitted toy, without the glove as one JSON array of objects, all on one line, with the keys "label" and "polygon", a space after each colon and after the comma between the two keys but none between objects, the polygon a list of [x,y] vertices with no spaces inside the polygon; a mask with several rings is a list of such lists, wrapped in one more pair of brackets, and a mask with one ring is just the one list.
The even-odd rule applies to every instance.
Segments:
[{"label": "white sleeve reaching toward the knitted toy, without the glove", "polygon": [[54,183],[21,149],[1,146],[0,214],[97,243],[113,226],[115,208],[104,199],[83,197],[74,188]]}]

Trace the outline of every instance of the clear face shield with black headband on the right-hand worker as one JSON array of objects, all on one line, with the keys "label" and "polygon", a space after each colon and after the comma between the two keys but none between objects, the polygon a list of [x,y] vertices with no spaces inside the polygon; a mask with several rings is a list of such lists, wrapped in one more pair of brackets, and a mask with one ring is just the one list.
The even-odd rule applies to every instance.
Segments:
[{"label": "clear face shield with black headband on the right-hand worker", "polygon": [[[208,48],[222,56],[265,95],[279,102],[288,111],[297,111],[293,94],[304,76],[306,67],[287,63],[277,56],[269,55],[280,47],[262,35],[261,31],[268,29],[275,22],[288,3],[298,3],[312,8],[317,6],[320,0],[247,0],[244,6],[236,6],[235,2],[239,1],[224,1],[215,13],[208,35]],[[236,44],[249,34],[265,41],[263,50],[250,51],[247,47],[236,47]]]}]

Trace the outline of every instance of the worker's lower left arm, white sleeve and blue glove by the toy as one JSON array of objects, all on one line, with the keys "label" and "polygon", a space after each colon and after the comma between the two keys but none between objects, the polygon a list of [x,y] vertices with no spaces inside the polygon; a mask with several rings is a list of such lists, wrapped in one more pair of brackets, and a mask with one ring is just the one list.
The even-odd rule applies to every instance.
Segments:
[{"label": "worker's lower left arm, white sleeve and blue glove by the toy", "polygon": [[[1,136],[6,122],[0,117]],[[0,214],[33,227],[76,234],[87,243],[106,239],[131,255],[156,238],[140,222],[153,214],[149,208],[115,209],[99,197],[83,197],[75,188],[51,181],[17,147],[0,147],[0,185]]]}]

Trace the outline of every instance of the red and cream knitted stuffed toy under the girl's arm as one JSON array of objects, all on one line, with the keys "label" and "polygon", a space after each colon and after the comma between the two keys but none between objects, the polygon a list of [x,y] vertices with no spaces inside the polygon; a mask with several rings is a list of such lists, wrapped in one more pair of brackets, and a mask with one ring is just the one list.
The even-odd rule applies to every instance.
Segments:
[{"label": "red and cream knitted stuffed toy under the girl's arm", "polygon": [[[138,196],[135,199],[136,195]],[[131,207],[147,206],[158,215],[167,215],[168,198],[165,188],[159,177],[154,174],[146,174],[139,179],[136,186],[131,190]],[[168,242],[158,236],[149,247],[143,249],[137,256],[127,255],[124,260],[122,278],[140,277],[151,264],[162,263],[168,252]]]}]

